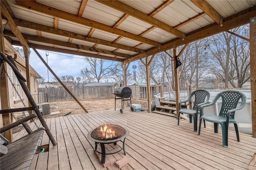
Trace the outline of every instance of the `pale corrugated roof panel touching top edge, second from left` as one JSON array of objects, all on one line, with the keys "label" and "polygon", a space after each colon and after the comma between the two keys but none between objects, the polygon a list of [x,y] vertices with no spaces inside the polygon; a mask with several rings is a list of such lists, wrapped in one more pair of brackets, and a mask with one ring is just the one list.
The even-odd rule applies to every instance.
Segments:
[{"label": "pale corrugated roof panel touching top edge, second from left", "polygon": [[124,13],[96,1],[88,0],[83,17],[113,26]]}]

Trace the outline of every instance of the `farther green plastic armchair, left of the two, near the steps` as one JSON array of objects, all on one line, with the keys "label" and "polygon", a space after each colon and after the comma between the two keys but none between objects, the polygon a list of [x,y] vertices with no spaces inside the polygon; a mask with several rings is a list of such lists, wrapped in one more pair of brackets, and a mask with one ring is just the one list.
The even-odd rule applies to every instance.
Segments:
[{"label": "farther green plastic armchair, left of the two, near the steps", "polygon": [[[195,97],[194,105],[192,109],[181,109],[181,104],[190,101],[192,97]],[[206,99],[206,100],[205,100]],[[196,90],[191,93],[187,100],[181,101],[179,103],[179,113],[178,113],[178,125],[180,124],[180,113],[189,115],[189,122],[192,123],[192,117],[194,121],[194,131],[197,131],[197,115],[199,114],[198,109],[201,105],[208,103],[210,99],[210,93],[206,90]],[[205,122],[204,122],[205,127]]]}]

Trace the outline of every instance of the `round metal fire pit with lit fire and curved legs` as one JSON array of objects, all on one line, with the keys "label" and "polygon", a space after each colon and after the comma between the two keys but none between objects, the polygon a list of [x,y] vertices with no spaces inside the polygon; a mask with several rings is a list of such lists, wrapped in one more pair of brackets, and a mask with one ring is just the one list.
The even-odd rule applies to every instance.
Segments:
[{"label": "round metal fire pit with lit fire and curved legs", "polygon": [[[126,155],[124,141],[128,136],[130,131],[127,128],[121,127],[119,125],[112,125],[111,123],[106,123],[105,125],[99,126],[94,130],[91,130],[87,137],[88,139],[95,142],[94,152],[98,152],[101,154],[101,163],[104,164],[106,160],[106,154],[115,154],[124,150],[124,155]],[[123,141],[122,141],[123,140]],[[105,144],[116,145],[116,142],[121,141],[123,143],[123,147],[114,153],[106,153]],[[97,150],[98,144],[101,147],[101,152]]]}]

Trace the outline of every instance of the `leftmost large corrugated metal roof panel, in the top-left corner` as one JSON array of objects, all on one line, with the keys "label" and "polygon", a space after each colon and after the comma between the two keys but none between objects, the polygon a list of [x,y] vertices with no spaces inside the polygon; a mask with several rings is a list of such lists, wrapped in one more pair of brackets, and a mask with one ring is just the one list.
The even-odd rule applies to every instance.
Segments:
[{"label": "leftmost large corrugated metal roof panel, in the top-left corner", "polygon": [[12,3],[10,3],[10,6],[16,18],[20,18],[22,20],[27,20],[30,22],[35,22],[38,24],[43,24],[50,27],[54,26],[54,17],[52,16],[36,11],[31,11],[20,6],[14,6]]}]

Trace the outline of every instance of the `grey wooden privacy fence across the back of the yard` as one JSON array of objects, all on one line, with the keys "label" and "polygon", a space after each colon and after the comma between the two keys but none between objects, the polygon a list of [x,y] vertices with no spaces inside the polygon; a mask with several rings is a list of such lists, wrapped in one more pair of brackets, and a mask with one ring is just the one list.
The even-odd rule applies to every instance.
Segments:
[{"label": "grey wooden privacy fence across the back of the yard", "polygon": [[[68,88],[78,100],[85,99],[112,99],[114,87],[82,87]],[[74,99],[63,88],[38,88],[38,93],[47,94],[48,102],[73,101]]]}]

